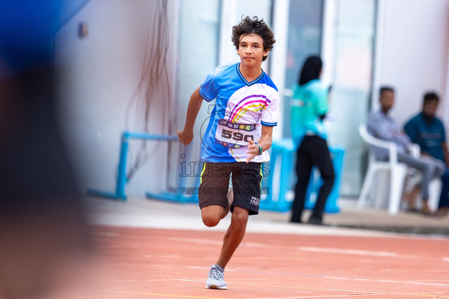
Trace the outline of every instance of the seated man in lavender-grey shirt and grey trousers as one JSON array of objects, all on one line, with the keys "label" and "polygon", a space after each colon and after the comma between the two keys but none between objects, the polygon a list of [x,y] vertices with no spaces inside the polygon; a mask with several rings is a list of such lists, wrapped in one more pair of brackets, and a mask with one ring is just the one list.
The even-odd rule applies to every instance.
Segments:
[{"label": "seated man in lavender-grey shirt and grey trousers", "polygon": [[[417,159],[410,155],[408,150],[409,137],[400,131],[396,121],[388,115],[388,111],[394,104],[394,90],[391,87],[380,88],[379,102],[381,105],[380,110],[372,112],[368,117],[368,132],[376,138],[396,143],[397,160],[422,173],[420,189],[423,194],[423,209],[421,212],[431,215],[432,212],[427,205],[429,182],[433,178],[441,177],[445,173],[445,168],[428,158],[420,157]],[[377,160],[388,160],[387,149],[380,147],[374,147],[373,149]],[[409,202],[409,209],[413,209],[411,202]]]}]

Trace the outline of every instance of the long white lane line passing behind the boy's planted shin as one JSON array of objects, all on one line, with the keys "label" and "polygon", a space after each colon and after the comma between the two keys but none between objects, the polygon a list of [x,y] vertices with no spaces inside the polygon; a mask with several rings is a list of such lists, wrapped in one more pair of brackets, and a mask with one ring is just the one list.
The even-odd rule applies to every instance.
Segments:
[{"label": "long white lane line passing behind the boy's planted shin", "polygon": [[[187,243],[200,243],[200,244],[215,244],[222,245],[222,241],[208,240],[208,239],[198,239],[198,238],[176,238],[168,237],[170,241],[177,242],[187,242]],[[426,257],[426,256],[414,256],[414,255],[403,255],[397,252],[388,251],[368,251],[368,250],[357,250],[357,249],[342,249],[342,248],[326,248],[326,247],[288,247],[280,245],[269,245],[264,243],[254,243],[254,242],[242,242],[240,247],[257,247],[257,248],[271,248],[271,249],[281,249],[281,250],[299,250],[299,251],[309,251],[309,252],[326,252],[326,253],[336,253],[336,254],[352,254],[361,256],[380,256],[380,257],[396,257],[405,259],[422,259],[422,260],[440,260],[440,258]],[[444,257],[443,260],[449,258]]]}]

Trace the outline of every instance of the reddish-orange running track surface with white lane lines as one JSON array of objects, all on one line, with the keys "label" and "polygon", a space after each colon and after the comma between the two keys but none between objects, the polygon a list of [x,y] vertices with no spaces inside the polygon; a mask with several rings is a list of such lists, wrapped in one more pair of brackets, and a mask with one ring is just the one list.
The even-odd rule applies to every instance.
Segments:
[{"label": "reddish-orange running track surface with white lane lines", "polygon": [[[205,289],[223,232],[95,226],[98,298],[449,298],[449,239],[246,234]],[[108,273],[108,274],[106,274]]]}]

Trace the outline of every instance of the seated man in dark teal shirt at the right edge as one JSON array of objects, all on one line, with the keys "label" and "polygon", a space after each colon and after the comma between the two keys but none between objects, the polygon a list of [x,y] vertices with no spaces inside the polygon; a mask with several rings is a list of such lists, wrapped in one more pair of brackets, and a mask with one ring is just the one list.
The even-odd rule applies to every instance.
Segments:
[{"label": "seated man in dark teal shirt at the right edge", "polygon": [[[418,143],[423,156],[432,157],[437,163],[449,168],[449,152],[445,138],[443,123],[435,117],[439,98],[434,92],[424,95],[423,111],[410,119],[404,126],[413,143]],[[449,211],[449,171],[446,169],[442,177],[438,214],[446,216]]]}]

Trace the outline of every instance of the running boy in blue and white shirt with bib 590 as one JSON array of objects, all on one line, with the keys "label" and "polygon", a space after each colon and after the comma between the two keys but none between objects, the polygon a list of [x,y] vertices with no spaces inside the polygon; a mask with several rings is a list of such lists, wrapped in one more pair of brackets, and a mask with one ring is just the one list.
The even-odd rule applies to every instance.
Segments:
[{"label": "running boy in blue and white shirt with bib 590", "polygon": [[[277,87],[260,68],[275,42],[273,32],[257,17],[246,17],[233,26],[232,41],[240,62],[220,65],[190,96],[182,143],[189,144],[202,100],[216,98],[215,108],[201,145],[199,207],[202,221],[215,226],[233,213],[218,260],[211,266],[207,289],[226,290],[224,272],[242,242],[248,215],[259,213],[261,165],[269,160],[273,126],[277,125]],[[232,173],[234,199],[226,196]]]}]

